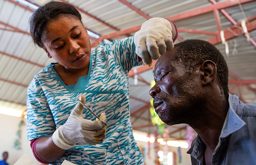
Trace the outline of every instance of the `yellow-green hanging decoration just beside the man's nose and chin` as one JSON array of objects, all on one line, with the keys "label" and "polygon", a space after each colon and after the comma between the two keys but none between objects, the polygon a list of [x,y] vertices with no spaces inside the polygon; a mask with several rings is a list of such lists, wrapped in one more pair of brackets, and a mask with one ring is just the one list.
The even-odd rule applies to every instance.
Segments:
[{"label": "yellow-green hanging decoration just beside the man's nose and chin", "polygon": [[[155,81],[152,80],[151,81],[151,88],[155,85]],[[151,113],[151,121],[153,123],[153,125],[158,125],[158,133],[160,135],[163,134],[164,128],[166,127],[164,125],[164,122],[161,121],[161,119],[158,117],[157,113],[155,112],[155,108],[153,107],[153,98],[150,100],[150,104],[151,104],[151,108],[150,108],[150,113]]]}]

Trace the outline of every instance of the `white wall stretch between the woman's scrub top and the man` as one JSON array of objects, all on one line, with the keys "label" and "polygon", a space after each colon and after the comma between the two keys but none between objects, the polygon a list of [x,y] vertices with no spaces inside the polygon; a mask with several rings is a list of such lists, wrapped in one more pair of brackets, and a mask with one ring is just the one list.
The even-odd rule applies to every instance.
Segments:
[{"label": "white wall stretch between the woman's scrub top and the man", "polygon": [[[148,143],[146,142],[141,142],[141,141],[136,141],[138,146],[147,146]],[[163,145],[160,145],[160,150],[162,150]],[[179,158],[178,158],[178,148],[177,147],[171,147],[169,146],[169,152],[175,152],[177,154],[177,159],[176,159],[176,164],[177,165],[191,165],[191,160],[190,160],[190,155],[187,154],[186,152],[188,151],[188,149],[183,149],[181,148],[181,160],[182,162],[179,163]],[[148,157],[148,156],[146,156]],[[155,151],[154,151],[154,143],[150,143],[150,158],[145,158],[144,162],[145,165],[153,165],[155,164],[154,160],[155,160]]]}]

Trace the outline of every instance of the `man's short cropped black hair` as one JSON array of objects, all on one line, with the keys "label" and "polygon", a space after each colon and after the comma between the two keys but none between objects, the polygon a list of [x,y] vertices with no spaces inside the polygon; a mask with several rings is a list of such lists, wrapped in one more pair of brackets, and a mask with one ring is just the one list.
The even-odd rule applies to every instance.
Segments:
[{"label": "man's short cropped black hair", "polygon": [[213,44],[204,40],[189,39],[174,46],[176,47],[174,58],[182,61],[190,73],[205,60],[213,61],[217,66],[219,85],[223,89],[225,98],[228,99],[228,66],[221,52]]}]

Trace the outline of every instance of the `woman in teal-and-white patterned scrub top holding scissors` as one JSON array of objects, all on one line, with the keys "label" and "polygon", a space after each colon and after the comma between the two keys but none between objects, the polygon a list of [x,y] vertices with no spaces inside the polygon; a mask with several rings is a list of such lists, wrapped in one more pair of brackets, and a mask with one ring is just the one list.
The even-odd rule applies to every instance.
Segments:
[{"label": "woman in teal-and-white patterned scrub top holding scissors", "polygon": [[[134,38],[91,48],[80,13],[56,1],[33,13],[30,33],[57,61],[37,73],[27,91],[27,137],[35,158],[55,165],[65,159],[77,165],[143,164],[130,121],[128,72],[142,64]],[[176,39],[176,31],[169,33]],[[76,106],[81,95],[107,127]]]}]

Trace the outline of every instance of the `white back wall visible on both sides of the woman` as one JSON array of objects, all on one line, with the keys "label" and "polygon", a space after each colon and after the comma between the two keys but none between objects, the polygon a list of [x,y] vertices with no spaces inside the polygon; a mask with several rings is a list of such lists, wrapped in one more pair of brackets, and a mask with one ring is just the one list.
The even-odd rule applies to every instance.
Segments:
[{"label": "white back wall visible on both sides of the woman", "polygon": [[[24,125],[21,127],[21,149],[16,150],[14,149],[14,141],[17,137],[16,132],[18,130],[18,125],[20,121],[24,121]],[[2,153],[4,151],[7,151],[9,153],[7,163],[10,165],[13,165],[23,154],[27,154],[30,158],[32,158],[37,164],[40,164],[36,159],[34,158],[34,155],[32,153],[32,150],[30,148],[30,141],[27,141],[27,133],[26,133],[26,119],[8,116],[8,115],[2,115],[0,114],[0,132],[1,132],[1,138],[0,138],[0,160],[2,160]],[[146,146],[148,145],[146,142],[136,141],[139,146]],[[160,145],[162,147],[162,145]],[[176,152],[178,151],[177,147],[169,147],[170,152]],[[177,165],[190,165],[190,155],[186,153],[187,149],[181,148],[182,153],[182,163],[178,163],[177,158]],[[145,164],[151,165],[155,164],[155,153],[154,153],[154,144],[151,143],[151,150],[150,150],[150,156],[151,160],[146,159]],[[178,156],[178,155],[177,155]]]}]

